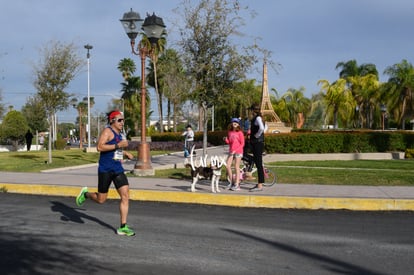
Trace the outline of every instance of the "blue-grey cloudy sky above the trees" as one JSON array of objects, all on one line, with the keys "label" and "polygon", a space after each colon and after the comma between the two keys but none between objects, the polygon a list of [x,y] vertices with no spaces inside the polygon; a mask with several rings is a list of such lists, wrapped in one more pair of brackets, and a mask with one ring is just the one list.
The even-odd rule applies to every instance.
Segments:
[{"label": "blue-grey cloudy sky above the trees", "polygon": [[[74,42],[80,56],[91,44],[91,96],[97,104],[92,114],[104,112],[107,102],[119,96],[122,82],[117,64],[130,57],[129,40],[119,22],[133,8],[142,18],[155,12],[167,25],[168,43],[178,35],[173,9],[180,0],[0,0],[0,89],[3,103],[20,110],[26,98],[35,94],[32,64],[39,49],[49,41]],[[414,1],[412,0],[242,0],[257,16],[242,28],[244,44],[261,37],[259,44],[272,51],[282,65],[279,73],[269,68],[269,90],[283,94],[289,88],[305,87],[306,96],[319,91],[317,81],[334,81],[338,62],[356,59],[374,63],[380,79],[387,66],[407,59],[413,63]],[[247,20],[247,19],[246,19]],[[261,65],[260,65],[261,66]],[[260,67],[259,66],[259,67]],[[140,74],[139,70],[137,74]],[[261,82],[261,75],[252,73]],[[87,72],[73,81],[68,92],[87,95]],[[155,103],[153,91],[152,101]],[[112,94],[113,96],[109,95]],[[153,108],[154,114],[157,109]],[[73,109],[59,115],[61,122],[73,122]]]}]

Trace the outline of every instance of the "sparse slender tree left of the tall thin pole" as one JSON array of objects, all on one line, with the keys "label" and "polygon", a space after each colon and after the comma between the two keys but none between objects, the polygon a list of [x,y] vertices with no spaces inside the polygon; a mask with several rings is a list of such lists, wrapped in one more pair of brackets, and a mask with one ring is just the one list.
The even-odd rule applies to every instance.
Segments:
[{"label": "sparse slender tree left of the tall thin pole", "polygon": [[41,49],[41,59],[34,65],[34,87],[42,99],[49,121],[49,163],[52,163],[52,129],[55,114],[66,110],[71,96],[65,90],[79,73],[84,62],[76,54],[73,43],[50,42]]}]

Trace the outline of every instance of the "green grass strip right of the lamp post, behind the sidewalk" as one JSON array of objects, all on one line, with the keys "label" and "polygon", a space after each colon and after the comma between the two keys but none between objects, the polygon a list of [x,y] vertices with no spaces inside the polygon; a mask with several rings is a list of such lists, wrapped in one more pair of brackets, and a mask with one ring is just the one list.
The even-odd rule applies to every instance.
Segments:
[{"label": "green grass strip right of the lamp post, behind the sidewalk", "polygon": [[[414,160],[289,161],[266,166],[276,172],[278,183],[414,186]],[[190,178],[188,169],[155,173],[157,177]]]}]

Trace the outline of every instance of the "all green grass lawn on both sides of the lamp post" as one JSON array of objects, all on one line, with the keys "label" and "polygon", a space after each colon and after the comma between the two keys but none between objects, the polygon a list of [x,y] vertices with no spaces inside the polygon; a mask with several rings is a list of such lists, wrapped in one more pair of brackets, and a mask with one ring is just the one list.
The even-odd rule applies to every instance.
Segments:
[{"label": "all green grass lawn on both sides of the lamp post", "polygon": [[[151,154],[165,152],[151,151]],[[41,170],[97,163],[98,153],[80,149],[55,150],[47,163],[47,151],[2,152],[0,171],[40,172]],[[288,161],[267,163],[279,183],[414,186],[414,160]],[[223,168],[223,180],[225,172]],[[155,177],[189,179],[188,169],[156,170]]]}]

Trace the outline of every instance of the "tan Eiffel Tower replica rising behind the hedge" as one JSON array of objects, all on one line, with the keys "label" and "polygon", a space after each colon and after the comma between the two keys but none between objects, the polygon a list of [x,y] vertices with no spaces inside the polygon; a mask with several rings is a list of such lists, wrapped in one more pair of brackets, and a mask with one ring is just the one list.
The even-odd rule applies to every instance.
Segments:
[{"label": "tan Eiffel Tower replica rising behind the hedge", "polygon": [[262,100],[260,105],[260,112],[265,121],[266,133],[290,133],[292,128],[286,127],[285,123],[280,120],[279,116],[273,110],[270,102],[269,88],[267,84],[267,64],[263,63],[263,82],[262,82]]}]

